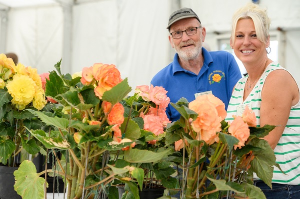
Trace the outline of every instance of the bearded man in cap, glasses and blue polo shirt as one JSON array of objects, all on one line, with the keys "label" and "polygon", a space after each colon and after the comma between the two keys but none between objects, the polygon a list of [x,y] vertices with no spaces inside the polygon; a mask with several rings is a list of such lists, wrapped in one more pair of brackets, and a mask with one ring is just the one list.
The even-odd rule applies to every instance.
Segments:
[{"label": "bearded man in cap, glasses and blue polo shirt", "polygon": [[[176,53],[173,62],[160,70],[151,84],[164,87],[173,103],[181,97],[190,102],[198,95],[212,93],[227,108],[232,89],[241,78],[233,55],[226,51],[207,51],[202,47],[206,30],[190,8],[174,11],[166,28]],[[171,105],[166,108],[166,114],[171,121],[180,118]]]}]

